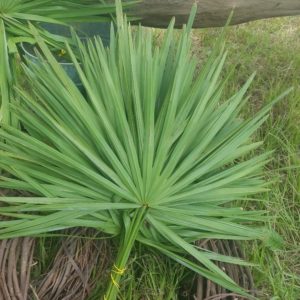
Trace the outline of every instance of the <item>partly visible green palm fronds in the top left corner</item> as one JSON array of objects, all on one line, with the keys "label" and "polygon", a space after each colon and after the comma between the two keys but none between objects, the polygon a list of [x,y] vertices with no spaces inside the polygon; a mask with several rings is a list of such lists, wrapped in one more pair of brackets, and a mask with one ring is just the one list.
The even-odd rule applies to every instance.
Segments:
[{"label": "partly visible green palm fronds in the top left corner", "polygon": [[9,53],[16,53],[20,42],[33,42],[29,22],[48,44],[59,47],[65,38],[47,32],[40,24],[110,21],[114,12],[114,3],[97,0],[0,0],[0,118],[10,123],[8,104],[16,74],[15,58]]}]

